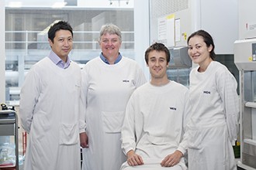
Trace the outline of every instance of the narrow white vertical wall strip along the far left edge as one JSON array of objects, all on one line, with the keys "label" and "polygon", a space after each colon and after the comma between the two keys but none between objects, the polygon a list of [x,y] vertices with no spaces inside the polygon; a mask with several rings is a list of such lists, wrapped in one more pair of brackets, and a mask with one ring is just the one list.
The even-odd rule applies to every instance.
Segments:
[{"label": "narrow white vertical wall strip along the far left edge", "polygon": [[[0,22],[5,23],[5,1],[0,1]],[[0,103],[5,103],[5,24],[0,25]]]}]

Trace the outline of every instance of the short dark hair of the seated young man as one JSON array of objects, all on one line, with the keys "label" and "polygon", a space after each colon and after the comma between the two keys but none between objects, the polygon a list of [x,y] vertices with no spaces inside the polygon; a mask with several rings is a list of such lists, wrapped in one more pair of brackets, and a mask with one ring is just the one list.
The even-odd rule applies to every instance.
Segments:
[{"label": "short dark hair of the seated young man", "polygon": [[145,52],[145,61],[146,63],[148,64],[148,54],[151,52],[151,51],[154,51],[156,50],[157,52],[160,52],[160,51],[163,51],[166,55],[166,60],[167,60],[167,63],[170,62],[170,51],[169,49],[164,46],[163,43],[160,43],[160,42],[154,42],[154,44],[152,44],[150,47],[147,48],[146,52]]}]

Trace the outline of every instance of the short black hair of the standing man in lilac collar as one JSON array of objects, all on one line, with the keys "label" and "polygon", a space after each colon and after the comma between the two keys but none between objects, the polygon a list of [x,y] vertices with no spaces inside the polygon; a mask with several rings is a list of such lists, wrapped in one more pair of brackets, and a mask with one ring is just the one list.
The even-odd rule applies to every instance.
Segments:
[{"label": "short black hair of the standing man in lilac collar", "polygon": [[73,29],[72,29],[71,25],[68,22],[59,21],[59,22],[55,23],[53,26],[50,26],[50,29],[48,31],[48,39],[50,39],[52,42],[54,42],[55,33],[61,29],[70,31],[71,35],[73,37]]}]

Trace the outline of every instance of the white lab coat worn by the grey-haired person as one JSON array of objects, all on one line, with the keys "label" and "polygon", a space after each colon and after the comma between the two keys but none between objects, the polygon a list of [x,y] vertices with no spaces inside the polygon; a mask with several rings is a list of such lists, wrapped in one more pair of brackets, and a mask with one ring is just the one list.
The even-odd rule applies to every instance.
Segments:
[{"label": "white lab coat worn by the grey-haired person", "polygon": [[140,66],[122,57],[106,64],[97,57],[82,70],[89,148],[83,149],[83,170],[119,170],[126,156],[121,150],[120,131],[131,93],[147,80]]}]

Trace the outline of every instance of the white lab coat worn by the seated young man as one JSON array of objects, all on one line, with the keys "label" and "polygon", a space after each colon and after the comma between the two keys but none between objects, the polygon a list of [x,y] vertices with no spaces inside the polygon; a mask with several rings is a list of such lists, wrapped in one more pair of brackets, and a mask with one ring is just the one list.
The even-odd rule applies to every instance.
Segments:
[{"label": "white lab coat worn by the seated young man", "polygon": [[135,90],[126,107],[122,148],[125,154],[135,151],[144,165],[130,167],[126,162],[121,169],[187,169],[184,158],[168,168],[161,167],[161,161],[176,150],[185,154],[189,109],[189,89],[175,81],[161,87],[146,83]]}]

